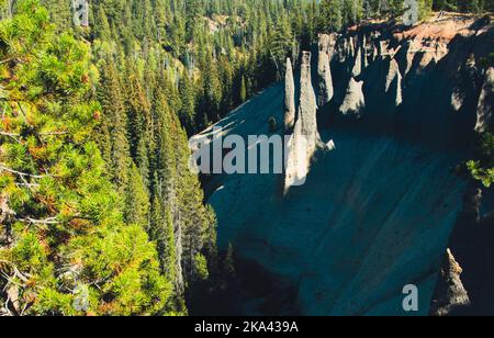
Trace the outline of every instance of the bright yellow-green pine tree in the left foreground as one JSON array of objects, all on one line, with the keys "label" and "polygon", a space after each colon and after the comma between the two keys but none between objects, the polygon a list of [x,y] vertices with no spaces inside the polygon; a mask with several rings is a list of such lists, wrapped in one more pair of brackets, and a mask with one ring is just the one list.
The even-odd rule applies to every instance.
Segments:
[{"label": "bright yellow-green pine tree in the left foreground", "polygon": [[171,283],[144,229],[123,223],[92,139],[101,108],[88,46],[47,20],[23,0],[0,23],[1,58],[14,60],[0,66],[1,205],[14,211],[1,224],[11,236],[0,244],[0,286],[18,295],[2,303],[18,315],[169,314]]}]

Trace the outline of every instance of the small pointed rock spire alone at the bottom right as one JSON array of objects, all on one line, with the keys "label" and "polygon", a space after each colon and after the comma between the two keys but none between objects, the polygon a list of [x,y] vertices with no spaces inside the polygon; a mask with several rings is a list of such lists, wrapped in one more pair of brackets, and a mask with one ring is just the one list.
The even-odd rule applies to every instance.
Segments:
[{"label": "small pointed rock spire alone at the bottom right", "polygon": [[448,249],[441,269],[441,279],[437,285],[430,314],[448,316],[458,314],[470,306],[470,297],[461,282],[463,270]]}]

